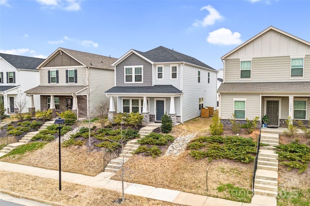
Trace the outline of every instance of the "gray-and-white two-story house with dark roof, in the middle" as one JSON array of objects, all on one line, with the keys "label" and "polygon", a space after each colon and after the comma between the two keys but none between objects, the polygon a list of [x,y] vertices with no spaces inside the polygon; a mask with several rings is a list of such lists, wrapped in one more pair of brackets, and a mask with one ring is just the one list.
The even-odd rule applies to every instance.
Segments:
[{"label": "gray-and-white two-story house with dark roof, in the middle", "polygon": [[176,124],[199,117],[204,106],[216,108],[217,71],[193,57],[163,46],[147,52],[131,49],[112,66],[115,86],[105,92],[109,120],[114,112],[139,112],[148,123],[167,113]]}]

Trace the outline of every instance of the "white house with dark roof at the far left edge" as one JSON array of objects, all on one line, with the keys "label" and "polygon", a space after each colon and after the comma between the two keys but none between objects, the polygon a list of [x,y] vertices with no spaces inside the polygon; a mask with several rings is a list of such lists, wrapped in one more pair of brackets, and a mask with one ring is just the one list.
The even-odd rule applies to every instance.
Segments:
[{"label": "white house with dark roof at the far left edge", "polygon": [[[0,54],[0,102],[3,101],[5,115],[28,112],[31,99],[24,91],[39,85],[36,67],[42,61],[44,59]],[[40,97],[36,95],[33,99],[40,100]],[[36,106],[40,109],[39,103]]]}]

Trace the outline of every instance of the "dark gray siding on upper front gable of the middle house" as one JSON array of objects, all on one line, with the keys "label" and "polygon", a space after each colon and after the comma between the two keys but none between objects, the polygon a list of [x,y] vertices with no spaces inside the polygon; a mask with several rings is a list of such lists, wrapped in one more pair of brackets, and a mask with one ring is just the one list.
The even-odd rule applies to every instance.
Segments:
[{"label": "dark gray siding on upper front gable of the middle house", "polygon": [[[124,67],[125,66],[141,66],[142,69],[142,81],[143,83],[124,83]],[[133,71],[134,74],[134,71]],[[127,87],[135,87],[135,86],[152,86],[152,64],[147,62],[144,59],[141,59],[135,54],[131,54],[129,57],[124,59],[118,65],[116,65],[116,86],[127,86]]]}]

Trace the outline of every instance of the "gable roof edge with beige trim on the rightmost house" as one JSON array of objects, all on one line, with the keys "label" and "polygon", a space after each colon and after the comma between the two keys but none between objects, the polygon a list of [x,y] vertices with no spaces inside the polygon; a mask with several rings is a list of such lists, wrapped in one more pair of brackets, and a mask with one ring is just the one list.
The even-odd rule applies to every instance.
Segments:
[{"label": "gable roof edge with beige trim on the rightmost house", "polygon": [[224,56],[221,57],[221,59],[225,59],[226,57],[228,57],[229,55],[233,54],[235,51],[237,51],[238,49],[242,48],[243,46],[247,45],[248,43],[252,42],[253,40],[257,39],[258,37],[262,36],[263,34],[267,33],[268,31],[270,30],[274,30],[274,31],[277,31],[285,36],[288,36],[296,41],[299,41],[299,42],[302,42],[303,44],[307,44],[308,46],[310,46],[310,42],[307,42],[303,39],[300,39],[290,33],[287,33],[285,31],[282,31],[280,29],[277,29],[273,26],[270,26],[268,27],[267,29],[263,30],[262,32],[260,32],[259,34],[255,35],[254,37],[252,37],[251,39],[249,39],[248,41],[246,41],[245,43],[243,44],[240,44],[239,46],[237,46],[236,48],[234,48],[232,51],[228,52],[227,54],[225,54]]}]

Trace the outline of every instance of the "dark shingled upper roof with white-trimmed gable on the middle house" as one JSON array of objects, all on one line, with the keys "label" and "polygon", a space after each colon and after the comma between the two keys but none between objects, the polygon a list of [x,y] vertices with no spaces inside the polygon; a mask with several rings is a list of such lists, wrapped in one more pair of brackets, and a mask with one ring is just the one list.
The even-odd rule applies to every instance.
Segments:
[{"label": "dark shingled upper roof with white-trimmed gable on the middle house", "polygon": [[159,46],[159,47],[152,49],[150,51],[147,51],[147,52],[141,52],[138,50],[131,49],[129,52],[127,52],[125,55],[123,55],[120,59],[118,59],[112,65],[117,65],[119,62],[121,62],[123,59],[127,58],[132,53],[135,53],[136,55],[138,55],[141,58],[150,62],[151,64],[153,64],[153,63],[185,62],[188,64],[197,65],[197,66],[201,66],[201,67],[208,68],[211,70],[215,70],[212,67],[201,62],[198,59],[187,56],[187,55],[182,54],[180,52],[176,52],[172,49],[168,49],[164,46]]}]

